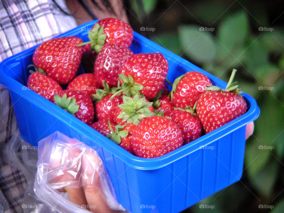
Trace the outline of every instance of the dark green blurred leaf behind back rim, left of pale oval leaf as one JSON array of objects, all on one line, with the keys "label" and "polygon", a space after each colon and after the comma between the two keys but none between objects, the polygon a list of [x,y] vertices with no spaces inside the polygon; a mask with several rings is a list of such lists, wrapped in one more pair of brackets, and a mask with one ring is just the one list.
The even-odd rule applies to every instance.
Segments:
[{"label": "dark green blurred leaf behind back rim, left of pale oval leaf", "polygon": [[183,53],[178,34],[176,32],[157,34],[154,35],[151,40],[177,55]]}]

